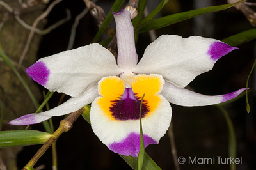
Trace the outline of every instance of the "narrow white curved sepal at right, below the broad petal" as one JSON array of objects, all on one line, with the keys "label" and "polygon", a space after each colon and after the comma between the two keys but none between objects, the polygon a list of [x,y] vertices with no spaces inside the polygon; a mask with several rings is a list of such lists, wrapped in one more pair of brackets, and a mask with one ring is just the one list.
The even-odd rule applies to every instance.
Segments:
[{"label": "narrow white curved sepal at right, below the broad petal", "polygon": [[174,84],[165,83],[162,90],[162,95],[172,104],[182,105],[182,106],[204,106],[204,105],[214,105],[226,102],[232,98],[237,97],[240,93],[248,88],[241,88],[232,93],[227,93],[225,95],[202,95],[189,91],[188,89],[178,88]]}]

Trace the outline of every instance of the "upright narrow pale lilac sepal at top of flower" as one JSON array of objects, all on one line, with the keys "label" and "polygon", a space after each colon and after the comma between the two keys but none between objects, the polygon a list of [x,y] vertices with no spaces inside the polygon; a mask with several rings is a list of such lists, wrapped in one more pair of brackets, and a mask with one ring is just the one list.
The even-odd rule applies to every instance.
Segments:
[{"label": "upright narrow pale lilac sepal at top of flower", "polygon": [[120,13],[113,14],[116,22],[118,66],[124,70],[132,70],[138,62],[138,56],[134,42],[134,29],[131,22],[131,13],[127,10],[121,10]]}]

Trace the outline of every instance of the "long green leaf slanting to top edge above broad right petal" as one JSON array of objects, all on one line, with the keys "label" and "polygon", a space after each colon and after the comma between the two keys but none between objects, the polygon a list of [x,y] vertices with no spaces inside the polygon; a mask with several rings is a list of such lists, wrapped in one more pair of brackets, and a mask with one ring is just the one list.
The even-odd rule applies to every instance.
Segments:
[{"label": "long green leaf slanting to top edge above broad right petal", "polygon": [[[243,0],[245,1],[245,0]],[[234,4],[225,4],[220,6],[210,6],[207,8],[200,8],[197,10],[191,10],[188,12],[182,12],[182,13],[176,13],[173,15],[168,15],[166,17],[161,17],[159,19],[150,20],[148,24],[141,27],[140,32],[146,32],[150,31],[152,29],[159,29],[162,27],[170,26],[171,24],[175,24],[177,22],[181,22],[182,20],[191,19],[193,17],[196,17],[198,15],[203,15],[205,13],[212,13],[212,12],[218,12],[221,10],[226,10],[227,8],[230,8],[238,3],[241,3],[243,1],[239,1]]]}]

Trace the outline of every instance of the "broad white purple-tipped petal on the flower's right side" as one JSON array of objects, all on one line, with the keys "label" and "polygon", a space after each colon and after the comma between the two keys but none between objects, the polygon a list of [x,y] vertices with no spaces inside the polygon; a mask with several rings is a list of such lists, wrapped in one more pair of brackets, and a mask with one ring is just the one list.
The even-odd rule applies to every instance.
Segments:
[{"label": "broad white purple-tipped petal on the flower's right side", "polygon": [[148,45],[134,73],[157,73],[184,88],[197,75],[208,72],[221,56],[237,49],[211,38],[162,35]]}]

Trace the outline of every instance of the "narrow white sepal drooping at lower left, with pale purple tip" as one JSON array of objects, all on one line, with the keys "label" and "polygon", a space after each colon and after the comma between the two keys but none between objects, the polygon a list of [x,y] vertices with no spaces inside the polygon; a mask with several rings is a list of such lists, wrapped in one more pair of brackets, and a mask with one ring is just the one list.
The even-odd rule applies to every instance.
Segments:
[{"label": "narrow white sepal drooping at lower left, with pale purple tip", "polygon": [[53,109],[41,113],[33,113],[26,114],[17,118],[15,120],[10,121],[8,124],[10,125],[32,125],[36,123],[40,123],[42,121],[48,120],[52,116],[61,116],[65,114],[69,114],[71,112],[78,111],[84,105],[90,104],[93,100],[99,96],[97,91],[97,86],[94,86],[90,89],[89,92],[84,93],[81,97],[72,97],[67,102],[64,102]]}]

